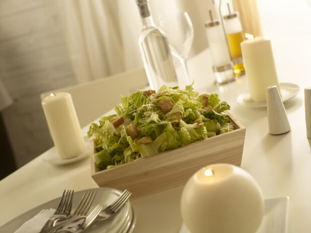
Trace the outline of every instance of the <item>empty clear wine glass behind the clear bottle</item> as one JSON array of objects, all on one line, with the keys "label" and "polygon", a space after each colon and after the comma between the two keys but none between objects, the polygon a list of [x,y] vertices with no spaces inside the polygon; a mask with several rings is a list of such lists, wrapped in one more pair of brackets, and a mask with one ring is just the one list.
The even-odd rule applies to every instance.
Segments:
[{"label": "empty clear wine glass behind the clear bottle", "polygon": [[171,52],[176,56],[186,74],[186,83],[190,85],[189,71],[187,67],[187,56],[193,42],[193,25],[187,12],[173,13],[161,17],[158,26],[164,31],[170,45]]}]

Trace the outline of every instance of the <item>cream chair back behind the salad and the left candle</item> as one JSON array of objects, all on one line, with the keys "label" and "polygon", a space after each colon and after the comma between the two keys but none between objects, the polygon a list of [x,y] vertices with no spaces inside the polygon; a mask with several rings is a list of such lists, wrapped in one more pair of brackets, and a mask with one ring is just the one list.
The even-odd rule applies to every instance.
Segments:
[{"label": "cream chair back behind the salad and the left candle", "polygon": [[41,100],[51,93],[70,93],[80,126],[95,121],[115,105],[121,103],[121,95],[128,96],[148,85],[143,68],[130,70],[91,82],[51,90],[40,94]]}]

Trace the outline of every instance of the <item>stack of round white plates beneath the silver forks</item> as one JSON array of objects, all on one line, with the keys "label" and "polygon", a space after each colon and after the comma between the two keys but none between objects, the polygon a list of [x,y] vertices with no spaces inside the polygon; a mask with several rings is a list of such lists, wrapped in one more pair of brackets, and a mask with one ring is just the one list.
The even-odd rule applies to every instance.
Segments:
[{"label": "stack of round white plates beneath the silver forks", "polygon": [[[89,189],[97,191],[97,194],[94,198],[93,204],[91,206],[91,210],[97,205],[102,204],[104,207],[110,205],[114,200],[118,198],[121,194],[120,190],[113,189],[113,188],[95,188]],[[72,202],[72,209],[74,210],[75,207],[79,204],[85,190],[75,192],[73,194],[73,202]],[[39,205],[20,216],[12,219],[11,221],[4,224],[0,227],[0,232],[14,232],[17,230],[24,222],[34,217],[38,214],[42,209],[49,209],[49,208],[56,208],[59,203],[60,197],[48,201],[42,205]],[[136,221],[136,217],[133,217],[134,213],[132,212],[131,204],[128,201],[125,206],[116,213],[113,217],[104,220],[104,221],[95,221],[90,228],[88,228],[85,232],[86,233],[115,233],[120,232],[119,230],[125,226],[128,226],[128,222],[130,222],[129,230],[131,230]],[[135,216],[135,214],[134,214]],[[122,232],[122,231],[121,231]],[[131,231],[129,231],[131,232]]]}]

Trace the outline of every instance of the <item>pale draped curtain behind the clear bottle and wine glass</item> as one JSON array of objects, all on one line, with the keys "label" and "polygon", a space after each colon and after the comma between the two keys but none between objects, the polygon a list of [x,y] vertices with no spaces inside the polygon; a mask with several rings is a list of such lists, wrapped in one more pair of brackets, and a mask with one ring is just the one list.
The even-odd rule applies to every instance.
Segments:
[{"label": "pale draped curtain behind the clear bottle and wine glass", "polygon": [[[187,11],[195,37],[190,55],[206,48],[204,0],[150,0],[153,18]],[[71,63],[79,83],[142,67],[136,0],[58,0]],[[206,16],[204,16],[206,15]]]}]

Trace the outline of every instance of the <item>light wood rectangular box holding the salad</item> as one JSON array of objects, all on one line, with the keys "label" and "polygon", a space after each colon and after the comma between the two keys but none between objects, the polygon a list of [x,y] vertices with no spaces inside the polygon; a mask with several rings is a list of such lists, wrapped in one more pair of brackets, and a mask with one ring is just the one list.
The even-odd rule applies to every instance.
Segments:
[{"label": "light wood rectangular box holding the salad", "polygon": [[132,161],[116,168],[100,170],[94,163],[94,141],[91,139],[91,175],[99,187],[132,192],[131,199],[185,184],[200,168],[227,163],[240,166],[245,127],[227,112],[235,130]]}]

